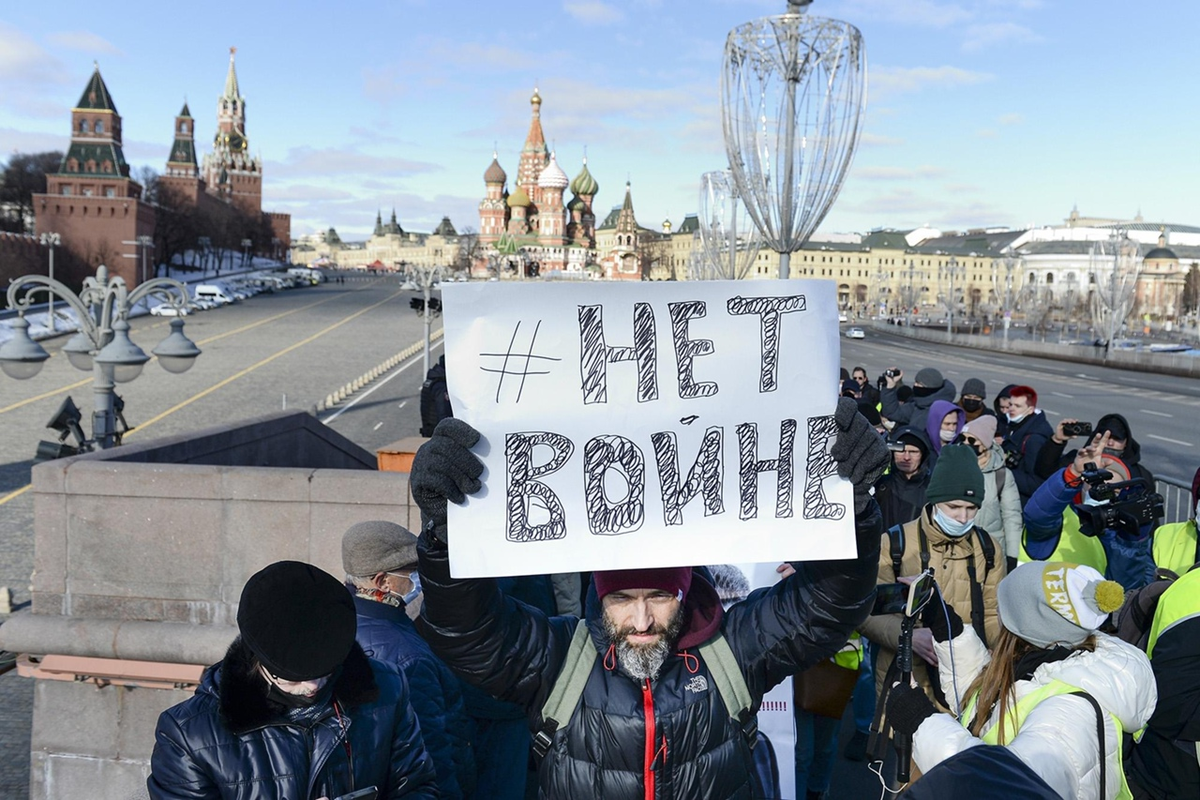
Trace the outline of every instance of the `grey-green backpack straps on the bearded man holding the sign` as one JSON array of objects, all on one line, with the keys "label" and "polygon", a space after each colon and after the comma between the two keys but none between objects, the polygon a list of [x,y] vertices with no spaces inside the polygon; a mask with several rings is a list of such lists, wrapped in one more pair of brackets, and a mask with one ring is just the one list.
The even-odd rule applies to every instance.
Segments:
[{"label": "grey-green backpack straps on the bearded man holding the sign", "polygon": [[[752,751],[758,741],[758,716],[754,712],[754,700],[746,686],[742,668],[733,657],[733,650],[725,636],[718,633],[714,638],[700,645],[700,655],[716,684],[725,709],[736,726],[742,729],[746,746]],[[566,650],[566,660],[558,673],[545,704],[541,706],[541,727],[533,736],[533,750],[538,758],[550,752],[554,732],[571,721],[575,709],[583,697],[583,687],[592,675],[592,664],[596,660],[596,649],[592,644],[587,620],[581,619],[575,627],[575,636]]]}]

